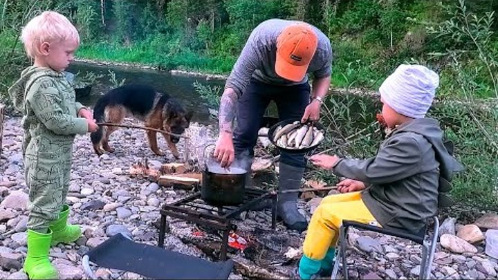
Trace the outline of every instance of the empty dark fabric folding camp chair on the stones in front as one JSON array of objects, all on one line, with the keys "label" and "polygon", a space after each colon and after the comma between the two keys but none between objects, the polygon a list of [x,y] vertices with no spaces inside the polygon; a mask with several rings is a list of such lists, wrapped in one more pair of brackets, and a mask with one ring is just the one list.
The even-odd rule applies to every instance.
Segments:
[{"label": "empty dark fabric folding camp chair on the stones in front", "polygon": [[116,234],[83,256],[84,272],[97,279],[90,262],[151,279],[228,279],[233,261],[214,263],[195,256],[131,241]]}]

